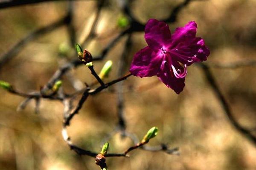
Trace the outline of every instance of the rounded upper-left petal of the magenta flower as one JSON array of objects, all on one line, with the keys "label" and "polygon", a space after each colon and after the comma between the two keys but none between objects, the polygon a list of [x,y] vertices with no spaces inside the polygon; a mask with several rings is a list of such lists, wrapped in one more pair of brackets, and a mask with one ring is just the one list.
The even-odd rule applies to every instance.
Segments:
[{"label": "rounded upper-left petal of the magenta flower", "polygon": [[150,19],[145,26],[145,40],[155,51],[166,47],[172,41],[169,26],[156,19]]}]

